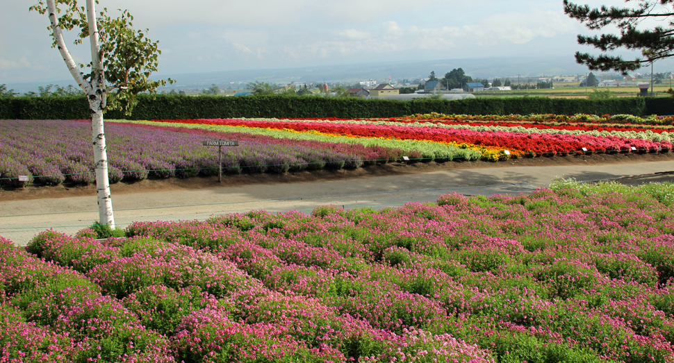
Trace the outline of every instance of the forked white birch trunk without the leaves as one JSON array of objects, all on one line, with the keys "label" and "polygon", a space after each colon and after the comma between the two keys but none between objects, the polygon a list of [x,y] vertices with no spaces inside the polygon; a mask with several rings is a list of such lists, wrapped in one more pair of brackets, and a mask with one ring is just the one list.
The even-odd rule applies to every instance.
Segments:
[{"label": "forked white birch trunk without the leaves", "polygon": [[96,8],[94,0],[87,0],[87,20],[89,23],[89,38],[91,44],[91,81],[85,82],[81,70],[70,56],[63,40],[63,34],[56,19],[56,6],[54,0],[47,0],[47,12],[51,28],[54,30],[54,39],[58,50],[63,56],[70,74],[82,88],[89,100],[91,113],[92,147],[94,151],[94,168],[96,170],[96,189],[98,196],[99,223],[115,228],[113,217],[113,201],[110,198],[110,183],[108,181],[108,156],[106,153],[106,134],[103,126],[103,110],[106,108],[107,92],[103,60],[99,44],[98,25],[96,23]]}]

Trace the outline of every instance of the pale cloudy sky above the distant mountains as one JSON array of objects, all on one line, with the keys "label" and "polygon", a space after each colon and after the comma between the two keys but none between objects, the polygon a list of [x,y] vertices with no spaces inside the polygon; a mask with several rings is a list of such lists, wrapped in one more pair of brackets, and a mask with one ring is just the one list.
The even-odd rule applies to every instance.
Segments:
[{"label": "pale cloudy sky above the distant mountains", "polygon": [[[3,3],[0,84],[71,78],[51,48],[47,15],[28,12],[36,2]],[[157,76],[598,53],[577,44],[578,34],[592,32],[564,15],[561,0],[100,0],[99,8],[113,16],[128,9],[135,28],[149,28],[162,50]],[[69,50],[88,62],[88,44]]]}]

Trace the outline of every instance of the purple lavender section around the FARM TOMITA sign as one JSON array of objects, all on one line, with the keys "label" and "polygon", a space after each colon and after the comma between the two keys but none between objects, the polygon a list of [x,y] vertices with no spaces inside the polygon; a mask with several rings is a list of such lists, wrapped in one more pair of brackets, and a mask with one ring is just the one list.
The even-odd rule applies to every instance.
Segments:
[{"label": "purple lavender section around the FARM TOMITA sign", "polygon": [[[271,137],[176,132],[110,123],[106,126],[110,181],[189,178],[217,175],[217,148],[204,137],[231,137],[240,146],[225,148],[223,171],[283,173],[304,169],[357,168],[363,160],[394,159],[397,151]],[[81,121],[0,121],[0,184],[94,183],[90,128]]]}]

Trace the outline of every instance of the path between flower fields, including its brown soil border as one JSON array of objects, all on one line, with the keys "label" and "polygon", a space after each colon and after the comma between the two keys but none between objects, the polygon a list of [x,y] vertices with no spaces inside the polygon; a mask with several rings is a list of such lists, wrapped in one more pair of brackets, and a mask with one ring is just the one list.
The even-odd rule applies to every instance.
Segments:
[{"label": "path between flower fields, including its brown soil border", "polygon": [[[659,173],[659,174],[656,174]],[[507,162],[391,163],[353,171],[252,174],[187,180],[143,180],[113,185],[117,226],[132,221],[206,219],[213,214],[268,210],[311,212],[318,205],[345,208],[436,201],[439,195],[519,194],[554,178],[620,179],[623,183],[674,180],[674,154],[592,155]],[[54,228],[76,233],[98,218],[93,187],[33,187],[0,191],[0,235],[26,244]]]}]

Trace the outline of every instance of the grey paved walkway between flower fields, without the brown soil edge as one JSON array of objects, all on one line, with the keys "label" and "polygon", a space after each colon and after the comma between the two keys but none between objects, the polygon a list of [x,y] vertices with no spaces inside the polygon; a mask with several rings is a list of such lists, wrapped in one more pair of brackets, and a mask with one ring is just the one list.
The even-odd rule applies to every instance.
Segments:
[{"label": "grey paved walkway between flower fields, without the brown soil edge", "polygon": [[[668,173],[674,173],[674,162],[461,169],[305,183],[113,194],[113,206],[117,226],[124,228],[132,221],[203,220],[213,214],[249,210],[309,213],[319,205],[329,204],[345,208],[385,208],[414,201],[434,202],[439,195],[452,192],[486,196],[520,194],[546,187],[554,178],[582,181],[628,178],[623,180],[632,184],[674,180]],[[96,196],[0,201],[0,236],[24,245],[36,233],[49,228],[73,234],[98,219],[96,205]]]}]

